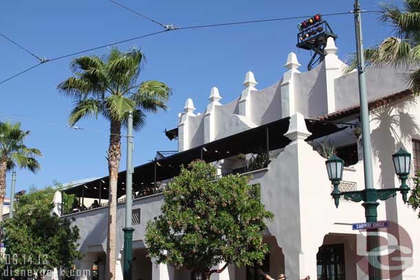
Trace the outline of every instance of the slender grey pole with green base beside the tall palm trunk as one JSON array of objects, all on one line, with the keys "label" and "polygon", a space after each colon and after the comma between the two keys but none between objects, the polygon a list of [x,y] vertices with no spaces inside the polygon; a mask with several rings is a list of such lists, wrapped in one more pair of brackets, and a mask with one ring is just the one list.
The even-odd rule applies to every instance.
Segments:
[{"label": "slender grey pole with green base beside the tall palm trunk", "polygon": [[132,280],[133,262],[133,112],[128,112],[127,120],[127,171],[125,178],[125,228],[124,231],[124,280]]}]

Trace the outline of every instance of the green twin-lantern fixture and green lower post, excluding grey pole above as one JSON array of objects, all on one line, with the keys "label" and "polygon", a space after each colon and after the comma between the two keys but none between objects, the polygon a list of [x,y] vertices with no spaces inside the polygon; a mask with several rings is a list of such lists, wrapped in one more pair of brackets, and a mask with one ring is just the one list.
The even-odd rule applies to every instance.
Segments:
[{"label": "green twin-lantern fixture and green lower post, excluding grey pole above", "polygon": [[[399,188],[392,189],[375,189],[366,188],[361,191],[339,191],[339,183],[342,180],[344,161],[333,155],[329,160],[326,160],[326,170],[328,172],[328,178],[333,183],[333,192],[331,196],[334,198],[335,206],[338,208],[340,197],[344,197],[346,200],[353,202],[361,202],[365,208],[366,222],[377,222],[377,206],[379,205],[378,200],[388,200],[390,197],[395,197],[399,191],[403,197],[403,202],[407,202],[407,194],[410,188],[407,186],[406,181],[408,174],[410,174],[411,155],[405,149],[399,149],[397,153],[392,155],[392,161],[395,166],[395,173],[397,173],[401,180],[401,186]],[[381,270],[379,269],[380,263],[377,259],[375,250],[379,246],[379,240],[377,236],[377,229],[368,230],[368,259],[369,259],[369,279],[381,279]]]}]

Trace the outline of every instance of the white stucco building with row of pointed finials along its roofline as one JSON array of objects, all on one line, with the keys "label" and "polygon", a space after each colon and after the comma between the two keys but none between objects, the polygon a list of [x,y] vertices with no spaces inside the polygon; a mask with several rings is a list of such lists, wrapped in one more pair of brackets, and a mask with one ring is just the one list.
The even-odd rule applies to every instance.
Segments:
[{"label": "white stucco building with row of pointed finials along its roofline", "polygon": [[[346,191],[364,189],[361,141],[349,125],[359,122],[357,72],[343,76],[344,63],[337,57],[333,39],[328,40],[324,52],[324,61],[309,72],[300,72],[297,56],[288,54],[283,76],[266,89],[258,89],[258,73],[255,76],[246,73],[243,87],[238,85],[242,93],[226,103],[222,102],[218,88],[213,87],[209,89],[209,105],[200,114],[195,111],[193,100],[187,100],[178,116],[178,128],[167,131],[170,137],[177,137],[178,151],[160,152],[155,162],[138,166],[134,172],[134,280],[194,277],[184,268],[174,270],[165,264],[156,265],[148,257],[143,242],[147,221],[160,213],[159,190],[177,175],[179,164],[187,164],[194,158],[216,164],[219,175],[251,174],[250,184],[260,184],[262,202],[275,215],[263,233],[271,249],[264,270],[273,277],[284,273],[291,280],[306,275],[311,279],[368,279],[364,268],[366,257],[362,256],[366,238],[361,231],[352,230],[353,223],[364,222],[364,208],[360,203],[345,200],[335,208],[325,159],[313,149],[322,141],[332,142],[347,165],[340,187]],[[419,97],[407,90],[403,74],[397,69],[368,69],[366,76],[375,188],[399,187],[392,165],[392,154],[397,149],[404,147],[412,153],[412,173],[420,169],[420,160],[417,161],[420,157]],[[269,151],[269,162],[263,160],[262,165],[251,169],[249,163],[255,164],[255,158],[266,157],[266,151]],[[120,197],[125,193],[124,180],[122,172]],[[411,181],[408,183],[412,186]],[[107,177],[76,186],[67,193],[106,204]],[[380,202],[378,215],[379,220],[399,225],[392,224],[390,234],[383,235],[384,245],[388,242],[393,246],[384,252],[384,266],[390,271],[390,275],[384,273],[384,279],[420,279],[417,213],[403,204],[398,194]],[[96,263],[98,279],[103,279],[107,207],[90,208],[65,217],[74,217],[80,228],[80,250],[85,257],[76,263],[77,268],[90,270]],[[118,204],[117,218],[116,266],[120,280],[123,279],[124,202]],[[405,269],[399,273],[401,266]],[[92,279],[92,275],[80,279]],[[256,278],[253,268],[229,265],[221,274],[213,274],[212,279]]]}]

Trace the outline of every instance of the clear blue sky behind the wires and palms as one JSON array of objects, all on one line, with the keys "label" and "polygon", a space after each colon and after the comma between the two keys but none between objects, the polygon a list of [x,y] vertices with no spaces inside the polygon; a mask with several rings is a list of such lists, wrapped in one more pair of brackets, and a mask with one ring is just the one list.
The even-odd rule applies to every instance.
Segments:
[{"label": "clear blue sky behind the wires and palms", "polygon": [[[162,23],[180,27],[353,9],[353,0],[120,0],[120,3]],[[378,4],[379,1],[361,1],[364,10],[378,10]],[[375,14],[363,15],[366,46],[379,43],[390,34],[390,28],[379,25],[376,17]],[[355,51],[353,15],[326,19],[339,35],[339,56],[346,58]],[[139,82],[161,80],[174,91],[169,111],[149,115],[147,127],[135,133],[134,164],[152,160],[158,150],[177,149],[176,142],[169,141],[162,131],[176,127],[178,113],[187,98],[193,98],[196,112],[202,112],[211,87],[217,86],[223,98],[221,103],[228,103],[242,91],[247,71],[254,72],[258,89],[268,87],[282,77],[288,52],[297,53],[301,71],[305,71],[310,54],[295,47],[299,22],[180,30],[118,45],[122,50],[141,47],[147,56]],[[0,32],[41,57],[53,58],[159,30],[158,25],[107,0],[0,3]],[[1,37],[0,51],[0,80],[37,63],[30,54]],[[105,48],[87,54],[106,52]],[[28,146],[41,149],[44,155],[40,160],[42,169],[35,175],[17,171],[17,191],[30,186],[43,188],[52,180],[70,182],[107,175],[108,123],[102,119],[83,120],[78,123],[78,127],[85,128],[83,131],[66,127],[72,100],[61,96],[56,85],[71,75],[71,59],[45,63],[0,85],[0,120],[21,121],[23,129],[31,131]],[[120,164],[120,170],[123,169],[124,156]],[[10,177],[8,174],[7,197]]]}]

